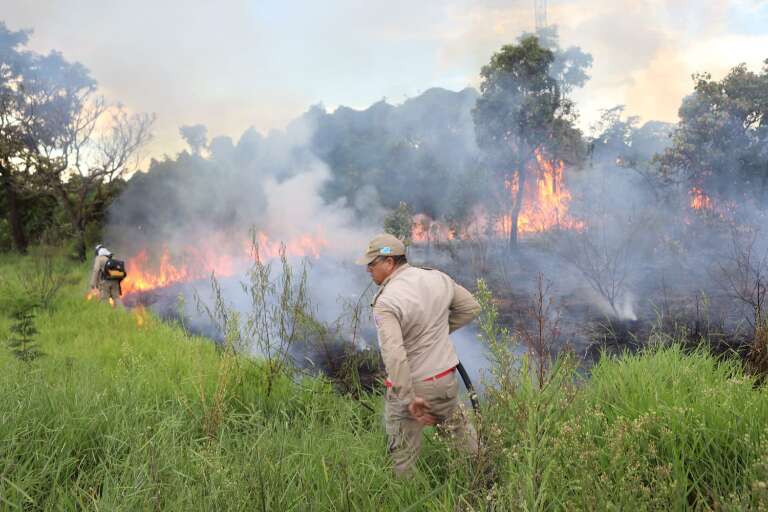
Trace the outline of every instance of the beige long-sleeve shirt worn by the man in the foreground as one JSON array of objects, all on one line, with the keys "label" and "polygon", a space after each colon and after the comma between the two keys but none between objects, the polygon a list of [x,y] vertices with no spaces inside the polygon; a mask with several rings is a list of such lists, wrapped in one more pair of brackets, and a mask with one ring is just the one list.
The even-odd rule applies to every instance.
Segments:
[{"label": "beige long-sleeve shirt worn by the man in the foreground", "polygon": [[472,294],[449,276],[408,264],[381,284],[371,305],[392,391],[407,402],[414,381],[459,363],[448,334],[480,313]]}]

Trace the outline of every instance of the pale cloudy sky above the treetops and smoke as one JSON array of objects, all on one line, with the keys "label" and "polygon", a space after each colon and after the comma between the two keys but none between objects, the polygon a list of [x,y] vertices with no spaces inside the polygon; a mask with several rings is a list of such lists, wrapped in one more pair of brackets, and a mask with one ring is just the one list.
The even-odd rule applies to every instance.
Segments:
[{"label": "pale cloudy sky above the treetops and smoke", "polygon": [[[157,115],[150,156],[185,147],[179,126],[235,140],[283,128],[310,105],[398,104],[430,87],[479,85],[494,51],[533,30],[533,0],[3,0],[29,47],[88,67],[101,92]],[[561,46],[592,54],[574,94],[674,122],[691,75],[768,59],[768,0],[549,0]]]}]

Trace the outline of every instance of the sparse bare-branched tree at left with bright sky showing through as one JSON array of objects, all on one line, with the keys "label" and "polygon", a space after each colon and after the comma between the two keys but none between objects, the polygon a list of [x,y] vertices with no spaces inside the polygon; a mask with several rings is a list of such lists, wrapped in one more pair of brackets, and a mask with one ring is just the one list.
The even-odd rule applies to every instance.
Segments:
[{"label": "sparse bare-branched tree at left with bright sky showing through", "polygon": [[[96,94],[96,84],[79,64],[60,56],[41,76],[45,98],[60,98],[52,108],[53,130],[33,137],[35,177],[64,211],[81,260],[86,256],[86,228],[110,185],[138,165],[138,152],[149,141],[154,115],[129,114]],[[30,100],[37,101],[34,97]]]}]

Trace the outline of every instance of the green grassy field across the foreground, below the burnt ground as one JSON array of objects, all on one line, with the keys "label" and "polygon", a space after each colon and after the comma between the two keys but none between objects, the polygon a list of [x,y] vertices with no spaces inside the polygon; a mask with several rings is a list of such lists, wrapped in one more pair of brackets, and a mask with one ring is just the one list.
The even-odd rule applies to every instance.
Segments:
[{"label": "green grassy field across the foreground, below the burnt ground", "polygon": [[0,346],[2,510],[768,507],[768,395],[737,363],[664,346],[586,381],[561,361],[543,389],[514,365],[484,400],[482,459],[430,431],[419,474],[398,481],[380,397],[316,378],[267,394],[258,362],[86,301],[86,266],[0,257],[0,339],[46,268],[62,287],[38,300],[41,355]]}]

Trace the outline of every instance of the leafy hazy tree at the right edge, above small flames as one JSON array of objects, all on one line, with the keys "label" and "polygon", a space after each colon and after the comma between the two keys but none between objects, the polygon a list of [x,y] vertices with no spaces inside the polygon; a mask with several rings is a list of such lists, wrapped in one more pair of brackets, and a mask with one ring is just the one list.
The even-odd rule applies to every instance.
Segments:
[{"label": "leafy hazy tree at the right edge, above small flames", "polygon": [[[768,59],[762,73],[745,64],[720,81],[694,75],[672,144],[656,160],[672,184],[694,187],[734,208],[768,199]],[[750,201],[745,201],[750,200]]]}]

